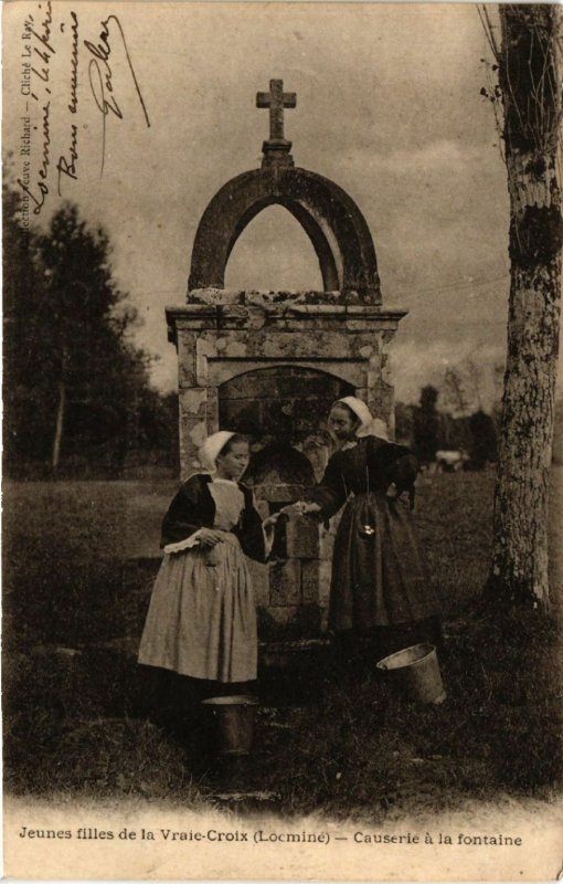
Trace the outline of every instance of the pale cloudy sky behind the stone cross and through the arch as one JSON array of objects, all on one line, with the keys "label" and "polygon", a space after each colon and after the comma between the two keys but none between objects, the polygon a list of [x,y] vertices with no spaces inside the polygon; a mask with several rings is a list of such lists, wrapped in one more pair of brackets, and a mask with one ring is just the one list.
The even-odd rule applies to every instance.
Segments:
[{"label": "pale cloudy sky behind the stone cross and through the arch", "polygon": [[[495,115],[480,94],[492,59],[476,6],[15,0],[3,28],[4,150],[17,177],[30,162],[29,190],[42,200],[32,220],[47,223],[66,199],[107,230],[160,389],[177,378],[164,307],[185,301],[208,202],[259,166],[268,114],[256,92],[282,78],[297,94],[285,112],[296,165],[354,199],[383,304],[408,311],[391,346],[396,398],[416,401],[423,383],[470,359],[489,403],[504,356],[509,207]],[[26,46],[39,73],[24,66]],[[118,114],[102,114],[104,101]],[[20,154],[25,117],[29,155]],[[56,167],[73,147],[74,177],[61,175],[59,194]],[[282,207],[244,231],[225,284],[321,288],[312,246]]]}]

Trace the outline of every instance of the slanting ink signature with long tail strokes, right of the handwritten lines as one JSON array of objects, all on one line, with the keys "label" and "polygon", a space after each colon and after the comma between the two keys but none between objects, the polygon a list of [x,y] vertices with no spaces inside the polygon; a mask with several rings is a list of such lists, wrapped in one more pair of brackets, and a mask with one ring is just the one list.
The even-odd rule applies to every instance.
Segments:
[{"label": "slanting ink signature with long tail strokes, right of the handwritten lines", "polygon": [[129,71],[131,73],[132,82],[135,84],[135,90],[137,92],[137,96],[142,107],[142,113],[145,115],[145,120],[147,126],[150,127],[149,115],[147,113],[147,108],[145,106],[145,101],[142,98],[142,94],[139,87],[139,83],[137,81],[137,76],[135,74],[135,69],[132,66],[131,57],[129,55],[129,49],[127,46],[127,41],[125,39],[124,29],[121,28],[121,22],[117,18],[117,15],[108,15],[107,19],[102,21],[102,32],[98,38],[97,44],[91,43],[89,40],[84,41],[84,45],[86,49],[92,53],[94,56],[89,61],[88,65],[88,78],[89,78],[89,86],[92,90],[92,94],[94,96],[94,101],[100,114],[103,115],[103,125],[102,125],[102,167],[100,167],[100,177],[104,175],[104,162],[105,162],[105,155],[106,155],[106,120],[108,114],[113,114],[118,119],[123,119],[123,110],[119,106],[119,103],[114,93],[114,84],[111,81],[113,73],[111,67],[109,65],[108,59],[111,55],[111,46],[109,44],[109,27],[111,22],[115,23],[117,29],[119,30],[119,34],[121,36],[121,42],[124,45],[125,54],[127,56],[127,63],[129,65]]}]

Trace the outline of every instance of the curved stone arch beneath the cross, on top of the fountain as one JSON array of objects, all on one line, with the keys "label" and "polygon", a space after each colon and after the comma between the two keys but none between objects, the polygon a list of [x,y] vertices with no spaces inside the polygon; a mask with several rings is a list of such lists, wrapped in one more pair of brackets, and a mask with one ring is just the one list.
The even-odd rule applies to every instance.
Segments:
[{"label": "curved stone arch beneath the cross, on top of the fountain", "polygon": [[299,168],[263,168],[231,179],[205,209],[193,244],[189,291],[223,288],[233,246],[258,212],[278,203],[309,236],[325,291],[381,303],[375,250],[360,209],[338,185]]}]

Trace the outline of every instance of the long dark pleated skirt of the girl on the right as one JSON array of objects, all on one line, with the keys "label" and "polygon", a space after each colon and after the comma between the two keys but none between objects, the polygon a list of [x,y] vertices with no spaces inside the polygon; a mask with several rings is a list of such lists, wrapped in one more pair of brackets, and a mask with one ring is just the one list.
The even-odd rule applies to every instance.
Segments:
[{"label": "long dark pleated skirt of the girl on the right", "polygon": [[334,539],[329,628],[361,632],[436,615],[408,504],[376,493],[353,497]]}]

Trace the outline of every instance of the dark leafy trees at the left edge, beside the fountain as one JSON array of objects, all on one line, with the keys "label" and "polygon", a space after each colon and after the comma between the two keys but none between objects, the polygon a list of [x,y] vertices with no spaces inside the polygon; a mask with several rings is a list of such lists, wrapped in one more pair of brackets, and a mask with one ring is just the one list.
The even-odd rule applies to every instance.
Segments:
[{"label": "dark leafy trees at the left edge, beside the fountain", "polygon": [[3,182],[3,461],[9,476],[121,476],[176,467],[176,393],[149,381],[110,244],[64,204],[23,229]]}]

